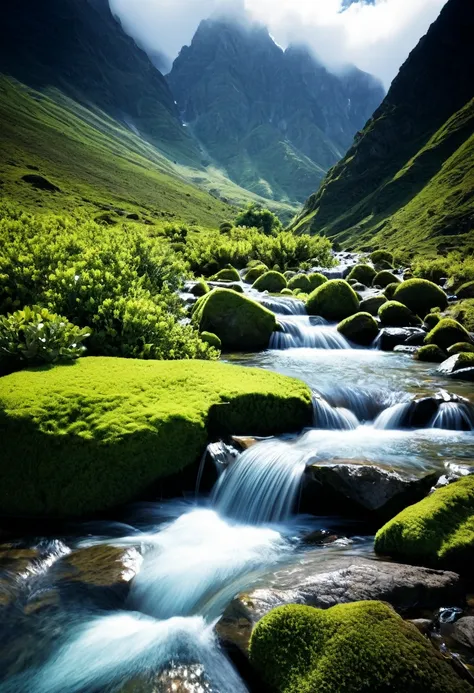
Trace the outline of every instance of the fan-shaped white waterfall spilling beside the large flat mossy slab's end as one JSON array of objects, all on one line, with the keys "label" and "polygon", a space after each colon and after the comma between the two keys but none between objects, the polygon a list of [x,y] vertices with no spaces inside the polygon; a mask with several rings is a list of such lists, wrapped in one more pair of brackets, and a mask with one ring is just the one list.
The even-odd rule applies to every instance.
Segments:
[{"label": "fan-shaped white waterfall spilling beside the large flat mossy slab's end", "polygon": [[294,509],[305,455],[280,440],[252,445],[220,476],[213,491],[218,512],[242,522],[282,522]]}]

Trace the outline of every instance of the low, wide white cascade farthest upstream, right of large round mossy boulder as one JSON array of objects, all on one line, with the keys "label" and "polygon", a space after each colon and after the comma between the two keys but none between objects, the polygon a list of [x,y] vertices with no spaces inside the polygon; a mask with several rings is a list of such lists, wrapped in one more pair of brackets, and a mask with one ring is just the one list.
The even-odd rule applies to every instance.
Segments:
[{"label": "low, wide white cascade farthest upstream, right of large round mossy boulder", "polygon": [[270,349],[351,349],[349,342],[323,318],[280,317],[281,332],[273,332]]}]

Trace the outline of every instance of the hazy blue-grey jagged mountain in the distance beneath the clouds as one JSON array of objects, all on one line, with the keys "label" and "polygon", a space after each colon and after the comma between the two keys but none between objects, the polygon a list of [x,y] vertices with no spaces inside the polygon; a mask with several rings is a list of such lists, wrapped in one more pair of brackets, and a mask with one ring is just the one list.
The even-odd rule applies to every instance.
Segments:
[{"label": "hazy blue-grey jagged mountain in the distance beneath the clouds", "polygon": [[168,82],[210,161],[265,197],[303,201],[383,98],[351,68],[329,73],[307,49],[283,51],[267,29],[200,24]]}]

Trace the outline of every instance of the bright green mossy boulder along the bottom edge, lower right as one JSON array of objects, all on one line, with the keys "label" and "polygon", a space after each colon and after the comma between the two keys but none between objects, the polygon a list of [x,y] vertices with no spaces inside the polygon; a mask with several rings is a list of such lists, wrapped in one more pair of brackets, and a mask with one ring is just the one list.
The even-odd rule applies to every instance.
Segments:
[{"label": "bright green mossy boulder along the bottom edge, lower right", "polygon": [[275,693],[468,693],[416,627],[382,602],[290,604],[256,625],[250,661]]}]

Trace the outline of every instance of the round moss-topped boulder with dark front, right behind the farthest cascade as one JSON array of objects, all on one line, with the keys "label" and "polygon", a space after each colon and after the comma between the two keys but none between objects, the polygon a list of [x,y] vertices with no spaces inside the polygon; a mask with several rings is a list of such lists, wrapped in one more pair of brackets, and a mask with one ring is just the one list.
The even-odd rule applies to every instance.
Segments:
[{"label": "round moss-topped boulder with dark front, right behind the farthest cascade", "polygon": [[306,301],[309,315],[340,321],[359,311],[354,289],[343,279],[331,279],[311,292]]}]

